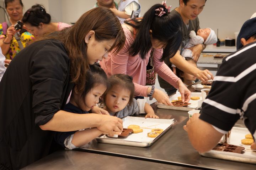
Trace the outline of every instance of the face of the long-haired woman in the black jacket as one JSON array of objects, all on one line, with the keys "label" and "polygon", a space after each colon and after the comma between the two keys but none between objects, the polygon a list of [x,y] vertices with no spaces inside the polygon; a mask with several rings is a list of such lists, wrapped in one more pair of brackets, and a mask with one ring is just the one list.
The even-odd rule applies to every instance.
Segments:
[{"label": "face of the long-haired woman in the black jacket", "polygon": [[95,35],[92,35],[90,39],[86,42],[87,44],[87,58],[89,64],[97,63],[98,61],[102,61],[103,58],[108,57],[108,52],[114,44],[115,39],[111,40],[102,40],[97,41],[95,39]]}]

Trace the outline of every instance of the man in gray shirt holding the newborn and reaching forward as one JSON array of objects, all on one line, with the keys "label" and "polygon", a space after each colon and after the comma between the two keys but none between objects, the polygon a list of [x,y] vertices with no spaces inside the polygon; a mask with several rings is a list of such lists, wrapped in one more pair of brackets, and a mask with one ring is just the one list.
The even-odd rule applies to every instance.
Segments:
[{"label": "man in gray shirt holding the newborn and reaching forward", "polygon": [[[195,75],[198,79],[203,81],[207,81],[208,79],[213,78],[212,74],[208,70],[201,71],[196,67],[192,67],[185,60],[177,60],[177,58],[181,57],[180,51],[189,41],[189,33],[191,30],[197,32],[199,27],[199,19],[198,15],[202,12],[203,7],[206,3],[206,0],[179,0],[180,6],[172,10],[172,13],[178,14],[182,18],[182,44],[180,50],[176,53],[176,55],[172,58],[166,58],[165,63],[171,68],[171,63],[175,64],[176,67],[180,68],[186,73]],[[197,62],[201,52],[206,47],[204,44],[199,44],[192,47],[193,59]],[[175,73],[175,70],[174,70]],[[177,89],[175,89],[172,85],[167,83],[164,79],[158,76],[158,81],[160,87],[165,89],[168,95],[174,94]]]}]

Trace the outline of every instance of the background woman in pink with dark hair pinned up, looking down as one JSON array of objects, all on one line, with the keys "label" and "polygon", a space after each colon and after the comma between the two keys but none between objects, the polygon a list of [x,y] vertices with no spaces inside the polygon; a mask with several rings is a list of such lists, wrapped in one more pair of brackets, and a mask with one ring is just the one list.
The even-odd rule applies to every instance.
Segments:
[{"label": "background woman in pink with dark hair pinned up, looking down", "polygon": [[35,37],[39,38],[43,34],[60,31],[64,28],[71,27],[69,24],[62,22],[50,22],[51,16],[46,12],[42,5],[36,4],[28,9],[22,18],[22,22],[27,30]]}]

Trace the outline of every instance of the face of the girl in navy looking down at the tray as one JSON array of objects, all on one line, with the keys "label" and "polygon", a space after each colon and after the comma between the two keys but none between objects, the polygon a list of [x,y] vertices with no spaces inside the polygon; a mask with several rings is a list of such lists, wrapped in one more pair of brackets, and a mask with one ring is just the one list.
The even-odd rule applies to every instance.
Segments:
[{"label": "face of the girl in navy looking down at the tray", "polygon": [[[77,98],[76,103],[80,109],[83,111],[90,111],[92,107],[96,106],[99,102],[100,96],[106,91],[107,87],[105,85],[97,85],[89,91],[84,100],[82,98]],[[85,101],[85,102],[84,102]]]}]

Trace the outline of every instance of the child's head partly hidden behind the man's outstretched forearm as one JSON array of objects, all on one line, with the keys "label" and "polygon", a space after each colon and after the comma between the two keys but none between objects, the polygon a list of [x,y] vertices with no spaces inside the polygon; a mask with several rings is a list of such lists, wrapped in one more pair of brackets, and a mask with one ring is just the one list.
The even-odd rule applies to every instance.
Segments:
[{"label": "child's head partly hidden behind the man's outstretched forearm", "polygon": [[[190,58],[190,57],[185,57],[185,60],[190,63],[192,66],[197,67],[196,62]],[[188,83],[188,81],[194,81],[196,80],[196,77],[194,75],[188,74],[183,72],[182,70],[178,69],[176,67],[176,74],[177,76],[182,80],[184,83]]]}]

